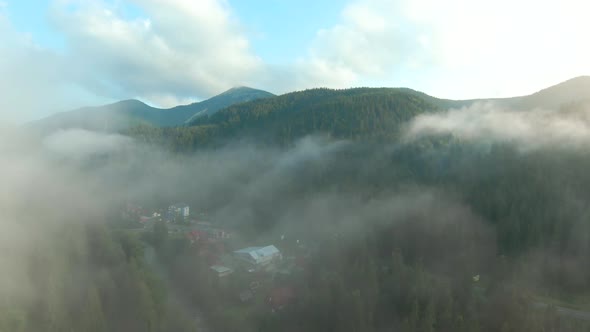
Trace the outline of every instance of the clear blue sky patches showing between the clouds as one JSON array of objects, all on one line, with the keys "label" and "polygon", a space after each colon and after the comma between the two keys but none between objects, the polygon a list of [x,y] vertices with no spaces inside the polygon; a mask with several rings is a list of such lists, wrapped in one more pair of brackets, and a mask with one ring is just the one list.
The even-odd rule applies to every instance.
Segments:
[{"label": "clear blue sky patches showing between the clouds", "polygon": [[[40,45],[57,50],[63,48],[63,38],[48,17],[51,0],[4,2],[16,29],[31,33]],[[280,63],[293,59],[305,49],[318,29],[335,24],[346,1],[234,0],[230,4],[251,35],[252,47],[257,54],[269,62]],[[126,17],[143,14],[132,3],[124,4],[123,8]]]}]

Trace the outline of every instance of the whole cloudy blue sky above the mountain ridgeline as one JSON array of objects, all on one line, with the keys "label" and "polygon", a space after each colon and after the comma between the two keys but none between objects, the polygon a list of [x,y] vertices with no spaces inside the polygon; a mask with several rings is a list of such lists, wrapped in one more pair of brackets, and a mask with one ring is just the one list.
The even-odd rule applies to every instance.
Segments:
[{"label": "whole cloudy blue sky above the mountain ridgeline", "polygon": [[583,0],[0,0],[0,120],[235,86],[471,99],[590,74]]}]

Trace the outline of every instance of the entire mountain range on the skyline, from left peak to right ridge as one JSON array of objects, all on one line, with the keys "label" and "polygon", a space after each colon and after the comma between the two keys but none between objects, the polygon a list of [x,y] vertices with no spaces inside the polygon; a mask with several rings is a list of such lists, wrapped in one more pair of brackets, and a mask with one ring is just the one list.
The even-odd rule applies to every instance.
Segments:
[{"label": "entire mountain range on the skyline, from left peak to right ridge", "polygon": [[[136,100],[56,114],[35,123],[49,128],[82,127],[125,130],[139,124],[155,127],[158,140],[184,140],[176,146],[196,147],[237,136],[287,143],[322,133],[345,139],[383,139],[398,133],[412,117],[492,101],[515,109],[561,108],[587,101],[590,77],[568,80],[534,94],[503,99],[448,100],[408,88],[310,89],[281,96],[247,87],[230,89],[208,100],[170,109],[150,107]],[[149,127],[149,126],[148,126]],[[141,130],[149,130],[143,128]],[[150,135],[149,133],[145,133]]]}]

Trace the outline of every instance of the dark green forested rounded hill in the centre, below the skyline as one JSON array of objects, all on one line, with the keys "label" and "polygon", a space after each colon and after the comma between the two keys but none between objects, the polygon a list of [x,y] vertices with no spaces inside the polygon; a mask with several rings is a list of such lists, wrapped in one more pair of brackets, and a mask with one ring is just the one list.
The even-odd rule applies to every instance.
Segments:
[{"label": "dark green forested rounded hill in the centre, below the skyline", "polygon": [[192,124],[283,142],[313,133],[354,139],[393,135],[417,114],[459,105],[405,88],[312,89],[234,105]]}]

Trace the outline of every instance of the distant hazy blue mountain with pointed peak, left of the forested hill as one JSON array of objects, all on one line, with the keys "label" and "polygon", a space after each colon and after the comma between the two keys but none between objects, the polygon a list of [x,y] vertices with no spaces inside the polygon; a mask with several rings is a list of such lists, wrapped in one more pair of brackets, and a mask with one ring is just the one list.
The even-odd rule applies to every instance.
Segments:
[{"label": "distant hazy blue mountain with pointed peak, left of the forested hill", "polygon": [[138,100],[124,100],[104,106],[57,113],[29,123],[28,126],[42,131],[67,128],[119,131],[139,124],[156,127],[180,126],[201,114],[211,115],[233,104],[273,96],[270,92],[237,87],[202,102],[169,109],[155,108]]}]

